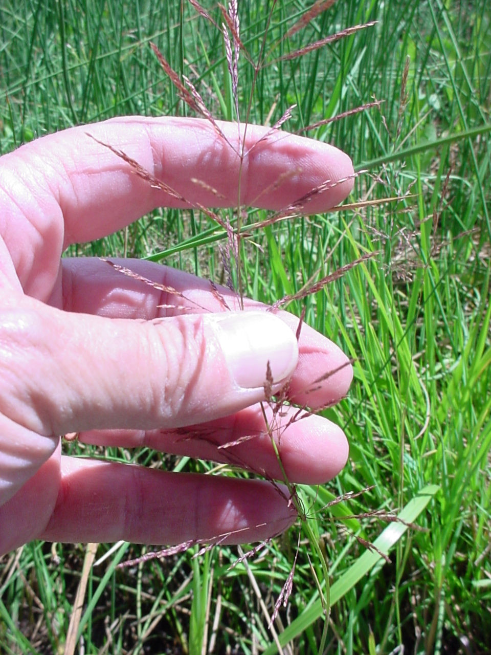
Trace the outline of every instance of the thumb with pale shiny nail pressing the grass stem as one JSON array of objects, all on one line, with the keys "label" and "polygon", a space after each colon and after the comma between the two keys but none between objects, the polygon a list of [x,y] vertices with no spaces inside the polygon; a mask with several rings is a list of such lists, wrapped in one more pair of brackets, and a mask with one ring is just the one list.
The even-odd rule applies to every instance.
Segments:
[{"label": "thumb with pale shiny nail pressing the grass stem", "polygon": [[27,297],[3,310],[0,343],[0,411],[46,437],[217,419],[264,400],[268,364],[278,388],[298,357],[295,334],[269,312],[145,322]]}]

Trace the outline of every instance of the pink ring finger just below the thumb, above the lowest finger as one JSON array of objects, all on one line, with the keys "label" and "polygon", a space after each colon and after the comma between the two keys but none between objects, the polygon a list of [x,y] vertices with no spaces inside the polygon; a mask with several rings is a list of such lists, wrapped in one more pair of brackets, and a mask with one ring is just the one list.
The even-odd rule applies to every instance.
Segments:
[{"label": "pink ring finger just below the thumb, above the lowest finger", "polygon": [[240,466],[268,479],[282,479],[272,439],[292,483],[323,484],[348,459],[344,432],[331,421],[285,407],[274,412],[253,405],[234,415],[179,430],[92,430],[79,439],[103,447],[150,447],[193,458]]}]

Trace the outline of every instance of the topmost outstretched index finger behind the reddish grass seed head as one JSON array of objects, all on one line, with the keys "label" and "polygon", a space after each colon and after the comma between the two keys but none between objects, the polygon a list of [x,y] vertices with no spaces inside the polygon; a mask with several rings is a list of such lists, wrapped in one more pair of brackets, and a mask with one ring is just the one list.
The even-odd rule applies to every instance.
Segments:
[{"label": "topmost outstretched index finger behind the reddish grass seed head", "polygon": [[[66,248],[107,236],[157,206],[236,206],[239,189],[240,204],[281,210],[325,184],[327,189],[308,202],[309,214],[332,208],[352,189],[352,162],[331,145],[278,130],[264,138],[267,128],[249,125],[241,166],[237,125],[219,127],[226,139],[200,119],[126,117],[33,141],[7,155],[27,188],[16,213],[28,215],[41,233],[52,231],[51,217],[63,221]],[[153,188],[89,134],[185,200]],[[37,212],[24,207],[29,189],[35,191]]]}]

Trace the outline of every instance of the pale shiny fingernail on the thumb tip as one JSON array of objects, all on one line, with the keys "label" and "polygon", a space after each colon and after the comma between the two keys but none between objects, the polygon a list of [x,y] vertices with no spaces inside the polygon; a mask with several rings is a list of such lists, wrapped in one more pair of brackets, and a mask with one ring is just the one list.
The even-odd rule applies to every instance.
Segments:
[{"label": "pale shiny fingernail on the thumb tip", "polygon": [[274,314],[229,312],[215,314],[212,320],[228,369],[242,388],[263,386],[268,362],[274,384],[284,383],[295,371],[299,357],[297,339]]}]

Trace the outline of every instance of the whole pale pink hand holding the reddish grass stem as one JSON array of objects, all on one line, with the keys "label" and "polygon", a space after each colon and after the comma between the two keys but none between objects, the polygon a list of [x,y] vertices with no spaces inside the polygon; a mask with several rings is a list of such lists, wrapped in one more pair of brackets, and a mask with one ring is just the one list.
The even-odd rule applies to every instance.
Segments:
[{"label": "whole pale pink hand holding the reddish grass stem", "polygon": [[[236,126],[221,128],[236,142]],[[145,261],[125,265],[181,295],[99,259],[62,260],[69,244],[113,233],[156,206],[185,206],[152,189],[88,133],[192,203],[237,202],[238,157],[204,121],[116,119],[1,157],[0,553],[33,538],[175,544],[232,531],[239,532],[229,542],[280,533],[295,512],[268,482],[61,455],[60,435],[79,432],[87,443],[147,445],[281,478],[255,404],[264,400],[268,360],[274,381],[290,379],[300,405],[334,403],[352,380],[346,356],[314,330],[302,327],[297,347],[298,319],[291,314],[248,301],[245,309],[253,312],[244,320],[234,313],[230,291],[221,293],[232,312],[206,280]],[[249,127],[246,147],[263,134]],[[261,194],[291,168],[301,172]],[[255,204],[278,210],[352,171],[335,148],[282,132],[245,158],[241,200],[257,198]],[[315,196],[308,212],[331,208],[350,189],[348,180]],[[328,371],[337,372],[315,382]],[[257,436],[217,449],[248,434]],[[323,483],[348,457],[342,431],[315,416],[284,430],[279,449],[291,482]]]}]

